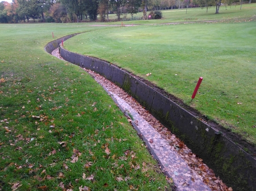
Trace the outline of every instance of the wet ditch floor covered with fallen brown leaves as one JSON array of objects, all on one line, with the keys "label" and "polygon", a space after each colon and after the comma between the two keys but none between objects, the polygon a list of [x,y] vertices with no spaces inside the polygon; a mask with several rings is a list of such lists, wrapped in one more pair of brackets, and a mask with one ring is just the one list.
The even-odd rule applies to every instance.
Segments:
[{"label": "wet ditch floor covered with fallen brown leaves", "polygon": [[[52,55],[61,58],[58,48]],[[146,111],[121,88],[93,71],[86,70],[128,117],[138,135],[145,142],[151,155],[159,162],[159,168],[173,181],[176,190],[233,190],[228,188],[214,172],[191,152],[187,146]],[[131,119],[132,116],[132,119]]]}]

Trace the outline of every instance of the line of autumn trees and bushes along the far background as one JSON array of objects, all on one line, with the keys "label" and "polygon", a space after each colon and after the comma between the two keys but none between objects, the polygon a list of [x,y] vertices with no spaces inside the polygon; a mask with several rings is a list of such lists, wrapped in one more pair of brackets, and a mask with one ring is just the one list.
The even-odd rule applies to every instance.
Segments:
[{"label": "line of autumn trees and bushes along the far background", "polygon": [[[183,9],[188,7],[216,6],[216,13],[222,3],[231,5],[243,0],[13,0],[12,3],[0,2],[0,23],[29,22],[81,22],[84,19],[102,22],[109,21],[108,15],[115,13],[120,21],[122,14],[139,11],[141,19],[148,19],[148,10]],[[251,0],[249,0],[251,3]],[[153,15],[151,12],[149,15]]]}]

